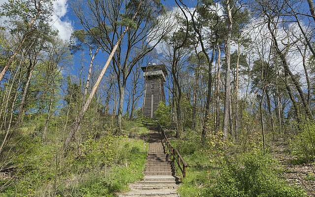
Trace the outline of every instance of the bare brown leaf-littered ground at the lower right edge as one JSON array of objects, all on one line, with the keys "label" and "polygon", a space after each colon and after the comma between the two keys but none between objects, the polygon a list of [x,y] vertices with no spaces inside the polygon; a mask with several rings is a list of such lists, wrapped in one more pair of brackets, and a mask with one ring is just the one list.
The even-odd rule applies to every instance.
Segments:
[{"label": "bare brown leaf-littered ground at the lower right edge", "polygon": [[271,153],[284,167],[283,176],[289,185],[302,187],[315,197],[315,163],[298,164],[290,154],[289,144],[280,140],[271,145]]}]

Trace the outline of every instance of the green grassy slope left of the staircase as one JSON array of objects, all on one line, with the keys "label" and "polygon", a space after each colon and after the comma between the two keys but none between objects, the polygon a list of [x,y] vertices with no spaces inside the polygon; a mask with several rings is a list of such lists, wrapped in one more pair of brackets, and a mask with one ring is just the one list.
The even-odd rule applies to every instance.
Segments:
[{"label": "green grassy slope left of the staircase", "polygon": [[[0,190],[0,197],[114,197],[127,191],[128,183],[143,178],[148,144],[141,138],[101,131],[96,138],[87,135],[80,145],[80,155],[73,144],[70,153],[63,157],[63,141],[54,139],[62,138],[63,124],[58,120],[52,123],[50,139],[45,143],[33,134],[38,127],[32,122],[26,122],[11,139],[9,146],[15,152],[1,165],[15,168],[0,176],[0,189],[9,184]],[[89,131],[84,125],[81,130]],[[125,131],[137,136],[148,132],[133,122],[125,122]]]}]

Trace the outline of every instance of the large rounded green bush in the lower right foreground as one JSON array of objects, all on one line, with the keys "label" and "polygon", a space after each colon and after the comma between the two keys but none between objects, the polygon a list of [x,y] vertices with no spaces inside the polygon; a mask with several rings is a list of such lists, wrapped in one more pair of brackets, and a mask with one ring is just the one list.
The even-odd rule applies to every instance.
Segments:
[{"label": "large rounded green bush in the lower right foreground", "polygon": [[306,197],[299,188],[288,186],[278,176],[279,166],[269,155],[253,151],[226,160],[207,197]]}]

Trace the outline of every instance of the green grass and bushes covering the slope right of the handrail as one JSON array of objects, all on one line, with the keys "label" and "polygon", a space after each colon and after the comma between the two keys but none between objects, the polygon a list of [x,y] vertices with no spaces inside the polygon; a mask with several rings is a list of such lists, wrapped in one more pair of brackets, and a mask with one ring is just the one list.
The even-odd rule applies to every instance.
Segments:
[{"label": "green grass and bushes covering the slope right of the handrail", "polygon": [[171,142],[189,164],[179,188],[182,197],[306,197],[302,189],[286,184],[280,164],[269,154],[253,147],[227,156],[238,146],[222,142],[221,133],[209,133],[204,145],[196,133],[187,136],[189,140]]}]

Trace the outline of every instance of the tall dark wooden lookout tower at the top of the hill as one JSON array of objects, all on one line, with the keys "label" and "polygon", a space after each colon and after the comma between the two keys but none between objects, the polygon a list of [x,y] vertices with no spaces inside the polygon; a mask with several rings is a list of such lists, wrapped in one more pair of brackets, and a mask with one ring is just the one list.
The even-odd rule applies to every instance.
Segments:
[{"label": "tall dark wooden lookout tower at the top of the hill", "polygon": [[155,118],[158,103],[165,102],[164,82],[167,71],[165,65],[149,64],[141,67],[145,78],[145,95],[142,113],[145,117]]}]

